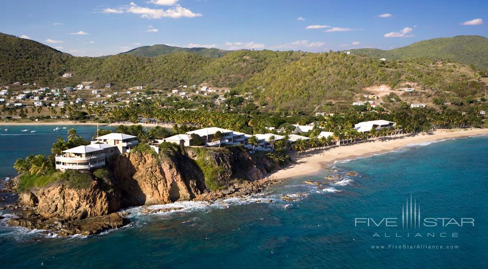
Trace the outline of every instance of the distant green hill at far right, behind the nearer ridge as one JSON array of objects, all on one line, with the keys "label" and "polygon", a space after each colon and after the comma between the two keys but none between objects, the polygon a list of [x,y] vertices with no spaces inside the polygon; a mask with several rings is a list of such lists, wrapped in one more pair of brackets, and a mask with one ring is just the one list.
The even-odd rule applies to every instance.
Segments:
[{"label": "distant green hill at far right, behind the nearer ridge", "polygon": [[392,60],[422,57],[434,61],[451,60],[488,70],[488,38],[482,36],[436,38],[391,50],[363,48],[353,49],[351,53]]}]

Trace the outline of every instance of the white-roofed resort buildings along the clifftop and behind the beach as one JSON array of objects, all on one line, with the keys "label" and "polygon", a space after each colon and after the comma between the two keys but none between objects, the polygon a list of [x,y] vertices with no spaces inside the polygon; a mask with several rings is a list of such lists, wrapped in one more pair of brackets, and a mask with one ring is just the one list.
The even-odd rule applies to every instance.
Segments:
[{"label": "white-roofed resort buildings along the clifftop and behind the beach", "polygon": [[[355,124],[354,128],[359,132],[369,132],[372,128],[383,129],[391,126],[395,126],[393,122],[385,120],[368,121]],[[296,125],[301,129],[304,126],[311,127],[309,125]],[[220,133],[217,136],[217,133]],[[318,138],[328,138],[333,135],[332,132],[321,132]],[[162,140],[157,140],[159,144],[163,142],[175,143],[183,146],[193,146],[194,139],[200,138],[204,146],[220,146],[220,145],[243,145],[249,152],[254,153],[256,151],[272,151],[274,148],[274,142],[287,139],[291,144],[299,140],[309,140],[309,137],[301,136],[295,133],[287,136],[266,133],[249,135],[233,130],[227,130],[219,127],[208,127],[198,130],[186,132],[184,134],[174,135]],[[256,139],[256,143],[250,143],[251,137]],[[130,152],[133,147],[139,145],[139,141],[136,136],[122,134],[122,133],[110,133],[107,135],[99,136],[96,140],[92,141],[90,145],[80,145],[74,148],[63,150],[60,155],[55,157],[56,169],[61,171],[66,170],[91,170],[105,166],[107,158],[121,153]],[[159,148],[156,145],[151,147],[159,152]]]}]

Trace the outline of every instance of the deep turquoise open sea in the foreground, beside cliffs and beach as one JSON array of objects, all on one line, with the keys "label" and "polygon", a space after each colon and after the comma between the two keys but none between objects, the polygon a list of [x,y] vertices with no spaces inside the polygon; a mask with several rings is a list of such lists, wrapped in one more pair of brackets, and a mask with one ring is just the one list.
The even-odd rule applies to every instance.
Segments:
[{"label": "deep turquoise open sea in the foreground, beside cliffs and beach", "polygon": [[[10,139],[0,146],[25,143]],[[487,142],[476,137],[413,145],[337,164],[332,168],[337,171],[287,180],[246,200],[185,202],[178,205],[183,209],[152,215],[130,208],[130,226],[86,238],[48,238],[0,227],[0,267],[485,268]],[[346,177],[350,170],[360,176]],[[303,183],[323,182],[330,174],[344,177],[320,187]],[[280,199],[297,193],[306,196]],[[402,206],[410,195],[422,218],[473,218],[475,226],[402,229]],[[258,203],[261,198],[273,203]],[[356,227],[354,222],[393,217],[400,227]],[[417,232],[423,237],[414,238]],[[436,236],[427,238],[427,233]],[[388,245],[443,249],[372,249]]]}]

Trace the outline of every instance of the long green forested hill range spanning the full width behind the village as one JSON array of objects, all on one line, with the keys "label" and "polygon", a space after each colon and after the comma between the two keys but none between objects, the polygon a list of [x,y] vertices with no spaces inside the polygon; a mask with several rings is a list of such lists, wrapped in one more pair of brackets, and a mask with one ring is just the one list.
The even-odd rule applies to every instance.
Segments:
[{"label": "long green forested hill range spanning the full width behind the village", "polygon": [[[439,65],[427,58],[383,62],[355,53],[270,50],[230,51],[219,58],[190,52],[74,57],[3,34],[0,43],[0,85],[18,81],[64,87],[93,82],[101,87],[110,82],[115,89],[147,85],[165,90],[208,83],[251,92],[256,104],[270,109],[314,109],[331,101],[350,104],[366,87],[378,85],[416,85],[418,90],[429,89],[427,95],[462,100],[487,96],[486,71],[447,60]],[[64,72],[74,75],[62,78]],[[419,95],[417,100],[427,98]]]}]

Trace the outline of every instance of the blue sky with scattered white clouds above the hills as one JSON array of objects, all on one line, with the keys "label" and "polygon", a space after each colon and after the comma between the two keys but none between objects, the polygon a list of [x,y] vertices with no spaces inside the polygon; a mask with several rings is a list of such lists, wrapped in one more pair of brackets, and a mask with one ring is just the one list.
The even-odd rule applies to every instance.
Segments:
[{"label": "blue sky with scattered white clouds above the hills", "polygon": [[142,45],[321,52],[488,36],[488,0],[0,0],[0,32],[75,56]]}]

